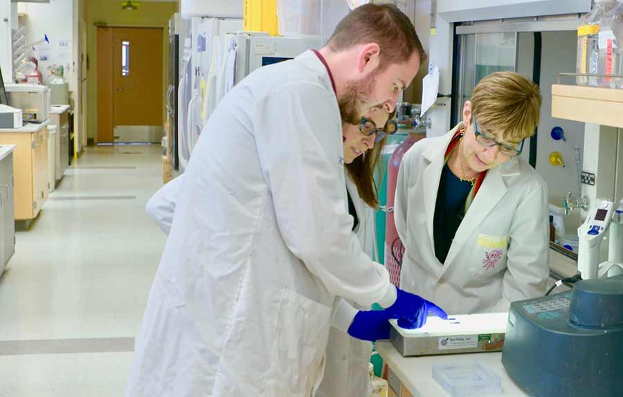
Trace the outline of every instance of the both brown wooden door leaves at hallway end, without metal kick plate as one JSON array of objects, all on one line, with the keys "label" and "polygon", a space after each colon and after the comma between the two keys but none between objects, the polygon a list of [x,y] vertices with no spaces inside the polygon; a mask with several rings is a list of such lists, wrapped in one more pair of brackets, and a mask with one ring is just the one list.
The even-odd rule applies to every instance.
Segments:
[{"label": "both brown wooden door leaves at hallway end, without metal kick plate", "polygon": [[98,27],[98,142],[116,126],[163,125],[163,30]]}]

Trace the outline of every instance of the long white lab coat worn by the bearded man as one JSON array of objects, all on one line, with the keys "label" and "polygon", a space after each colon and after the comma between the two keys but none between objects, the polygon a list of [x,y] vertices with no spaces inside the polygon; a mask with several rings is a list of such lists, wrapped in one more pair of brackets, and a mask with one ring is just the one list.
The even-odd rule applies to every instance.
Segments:
[{"label": "long white lab coat worn by the bearded man", "polygon": [[312,396],[336,296],[393,303],[351,231],[341,142],[309,51],[222,100],[181,182],[128,396]]}]

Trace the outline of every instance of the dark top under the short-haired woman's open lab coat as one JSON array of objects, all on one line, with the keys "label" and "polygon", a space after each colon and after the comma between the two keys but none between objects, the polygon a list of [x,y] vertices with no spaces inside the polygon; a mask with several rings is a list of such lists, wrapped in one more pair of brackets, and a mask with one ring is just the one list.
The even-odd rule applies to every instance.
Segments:
[{"label": "dark top under the short-haired woman's open lab coat", "polygon": [[470,191],[471,183],[461,181],[446,164],[439,181],[433,218],[435,257],[442,264],[446,261],[454,235],[463,220],[465,200]]}]

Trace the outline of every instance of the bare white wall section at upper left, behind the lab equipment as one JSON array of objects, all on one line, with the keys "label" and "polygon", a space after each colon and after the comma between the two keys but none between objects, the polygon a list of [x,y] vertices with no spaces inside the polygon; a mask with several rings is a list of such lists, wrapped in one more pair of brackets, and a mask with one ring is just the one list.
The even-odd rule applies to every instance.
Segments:
[{"label": "bare white wall section at upper left, behind the lab equipment", "polygon": [[[18,3],[19,12],[26,14],[24,23],[28,26],[28,41],[42,39],[48,35],[50,39],[49,60],[42,61],[42,45],[37,46],[39,71],[48,77],[48,66],[62,64],[65,68],[65,79],[69,82],[69,90],[75,91],[77,82],[74,57],[73,0],[50,0],[50,3]],[[66,44],[66,46],[62,46]]]}]

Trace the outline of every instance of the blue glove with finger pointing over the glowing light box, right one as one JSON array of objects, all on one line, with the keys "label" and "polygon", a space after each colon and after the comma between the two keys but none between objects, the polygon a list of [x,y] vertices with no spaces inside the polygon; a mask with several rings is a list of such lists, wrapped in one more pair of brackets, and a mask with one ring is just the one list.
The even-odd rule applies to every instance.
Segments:
[{"label": "blue glove with finger pointing over the glowing light box, right one", "polygon": [[448,315],[446,312],[433,302],[428,302],[423,297],[413,295],[400,288],[396,288],[396,290],[398,293],[396,302],[388,307],[386,311],[390,312],[392,318],[398,319],[398,325],[402,328],[421,328],[426,324],[426,317],[429,314],[447,320]]}]

